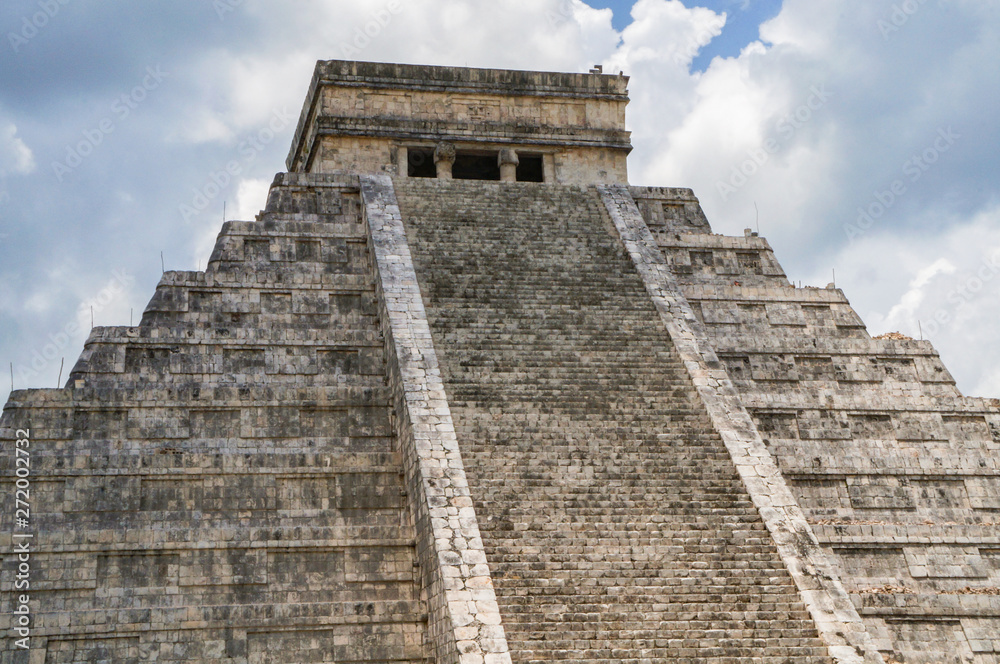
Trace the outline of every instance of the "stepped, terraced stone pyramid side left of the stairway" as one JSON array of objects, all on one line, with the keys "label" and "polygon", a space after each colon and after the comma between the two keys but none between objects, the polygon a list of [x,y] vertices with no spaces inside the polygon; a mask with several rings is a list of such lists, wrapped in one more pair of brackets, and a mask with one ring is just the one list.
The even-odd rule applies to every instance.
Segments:
[{"label": "stepped, terraced stone pyramid side left of the stairway", "polygon": [[[356,178],[280,176],[205,272],[97,328],[32,440],[31,650],[2,661],[423,663],[427,608]],[[19,531],[20,532],[20,531]]]}]

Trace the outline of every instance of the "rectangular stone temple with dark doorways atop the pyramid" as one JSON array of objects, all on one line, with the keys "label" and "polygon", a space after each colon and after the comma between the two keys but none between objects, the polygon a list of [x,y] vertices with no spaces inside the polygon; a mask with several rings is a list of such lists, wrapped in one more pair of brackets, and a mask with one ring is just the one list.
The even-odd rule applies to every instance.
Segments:
[{"label": "rectangular stone temple with dark doorways atop the pyramid", "polygon": [[289,171],[625,184],[628,77],[317,63]]}]

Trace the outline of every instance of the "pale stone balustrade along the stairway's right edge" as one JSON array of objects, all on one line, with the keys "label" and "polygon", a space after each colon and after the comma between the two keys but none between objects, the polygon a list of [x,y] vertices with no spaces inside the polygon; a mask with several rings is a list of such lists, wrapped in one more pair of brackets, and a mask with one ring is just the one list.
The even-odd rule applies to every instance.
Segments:
[{"label": "pale stone balustrade along the stairway's right edge", "polygon": [[599,185],[597,191],[830,656],[841,664],[883,664],[628,188]]}]

